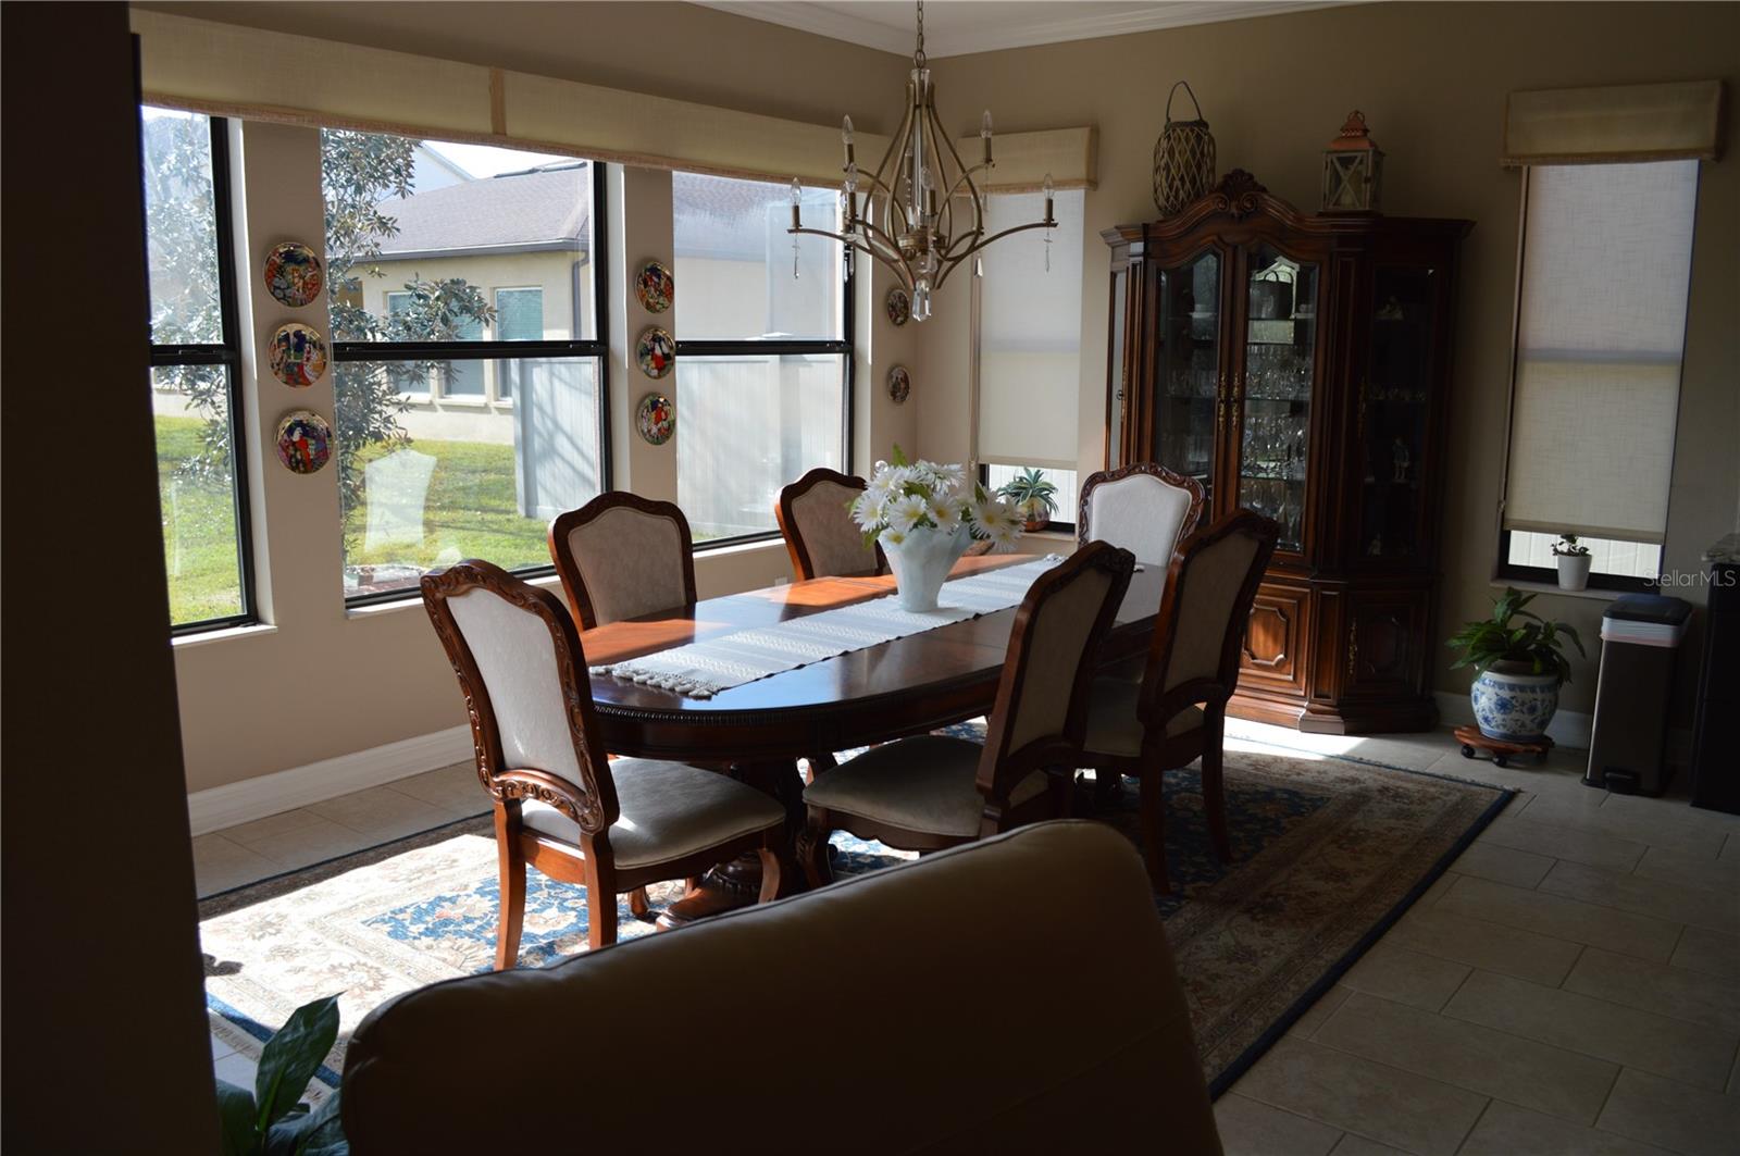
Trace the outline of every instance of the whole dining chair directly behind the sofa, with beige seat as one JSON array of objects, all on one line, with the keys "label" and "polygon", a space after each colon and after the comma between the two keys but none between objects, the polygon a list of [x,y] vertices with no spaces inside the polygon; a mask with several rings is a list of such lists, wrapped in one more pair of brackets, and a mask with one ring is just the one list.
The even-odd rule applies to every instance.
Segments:
[{"label": "whole dining chair directly behind the sofa, with beige seat", "polygon": [[1027,590],[1009,634],[985,743],[919,735],[873,747],[804,789],[799,858],[828,881],[828,836],[849,830],[934,851],[1068,810],[1088,686],[1134,559],[1091,543]]}]

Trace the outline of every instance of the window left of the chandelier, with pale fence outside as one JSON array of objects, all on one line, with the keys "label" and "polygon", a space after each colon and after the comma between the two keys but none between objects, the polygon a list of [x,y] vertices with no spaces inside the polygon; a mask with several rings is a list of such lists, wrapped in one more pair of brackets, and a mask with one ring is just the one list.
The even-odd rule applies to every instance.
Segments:
[{"label": "window left of the chandelier, with pale fence outside", "polygon": [[[778,533],[780,489],[849,468],[851,261],[799,237],[788,185],[672,176],[677,286],[677,503],[694,540]],[[839,195],[802,192],[806,225],[839,228]]]}]

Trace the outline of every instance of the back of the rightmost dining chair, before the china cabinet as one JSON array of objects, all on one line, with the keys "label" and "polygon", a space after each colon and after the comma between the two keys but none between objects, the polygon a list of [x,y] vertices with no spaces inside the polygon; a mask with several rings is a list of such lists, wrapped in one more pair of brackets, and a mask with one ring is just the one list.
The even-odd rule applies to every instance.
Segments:
[{"label": "back of the rightmost dining chair, before the china cabinet", "polygon": [[1141,679],[1141,721],[1166,721],[1195,703],[1223,703],[1239,682],[1239,642],[1281,528],[1235,510],[1178,547]]}]

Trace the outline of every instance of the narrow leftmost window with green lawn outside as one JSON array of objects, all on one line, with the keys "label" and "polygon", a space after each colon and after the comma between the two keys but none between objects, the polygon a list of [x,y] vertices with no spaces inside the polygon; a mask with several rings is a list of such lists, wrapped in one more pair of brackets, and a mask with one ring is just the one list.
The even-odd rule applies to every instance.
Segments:
[{"label": "narrow leftmost window with green lawn outside", "polygon": [[141,144],[169,616],[177,632],[240,625],[254,604],[228,129],[146,106]]}]

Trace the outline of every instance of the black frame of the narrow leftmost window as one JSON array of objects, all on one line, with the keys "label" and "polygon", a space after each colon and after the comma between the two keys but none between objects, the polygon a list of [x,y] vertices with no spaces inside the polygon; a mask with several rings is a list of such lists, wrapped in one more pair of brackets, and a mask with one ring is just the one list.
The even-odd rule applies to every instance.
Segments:
[{"label": "black frame of the narrow leftmost window", "polygon": [[[150,104],[148,101],[139,101],[141,134],[144,132],[146,108],[162,108],[162,106]],[[151,341],[150,319],[146,319],[146,341],[150,343],[150,362],[153,369],[153,378],[157,369],[179,369],[184,366],[224,367],[224,381],[230,393],[230,494],[235,505],[237,578],[242,594],[242,609],[235,615],[221,615],[218,618],[200,618],[197,622],[184,622],[184,623],[177,623],[174,622],[174,618],[171,618],[169,632],[172,637],[207,634],[211,630],[231,630],[235,627],[252,627],[259,623],[259,604],[254,594],[254,517],[247,486],[249,479],[247,439],[242,435],[242,432],[245,430],[242,414],[247,413],[247,407],[244,404],[245,390],[242,388],[242,326],[237,312],[237,280],[235,280],[237,233],[235,233],[235,207],[231,204],[231,186],[230,186],[230,120],[228,117],[207,117],[207,127],[211,131],[211,150],[212,150],[211,153],[212,155],[212,230],[214,237],[218,239],[218,313],[219,313],[221,341],[218,343],[195,341],[183,345],[157,343]],[[151,235],[150,219],[143,216],[144,214],[143,171],[139,174],[139,181],[141,181],[139,235],[144,240],[146,247],[150,247],[150,235]],[[150,258],[146,258],[146,268],[150,268]],[[167,568],[167,557],[164,564]]]}]

